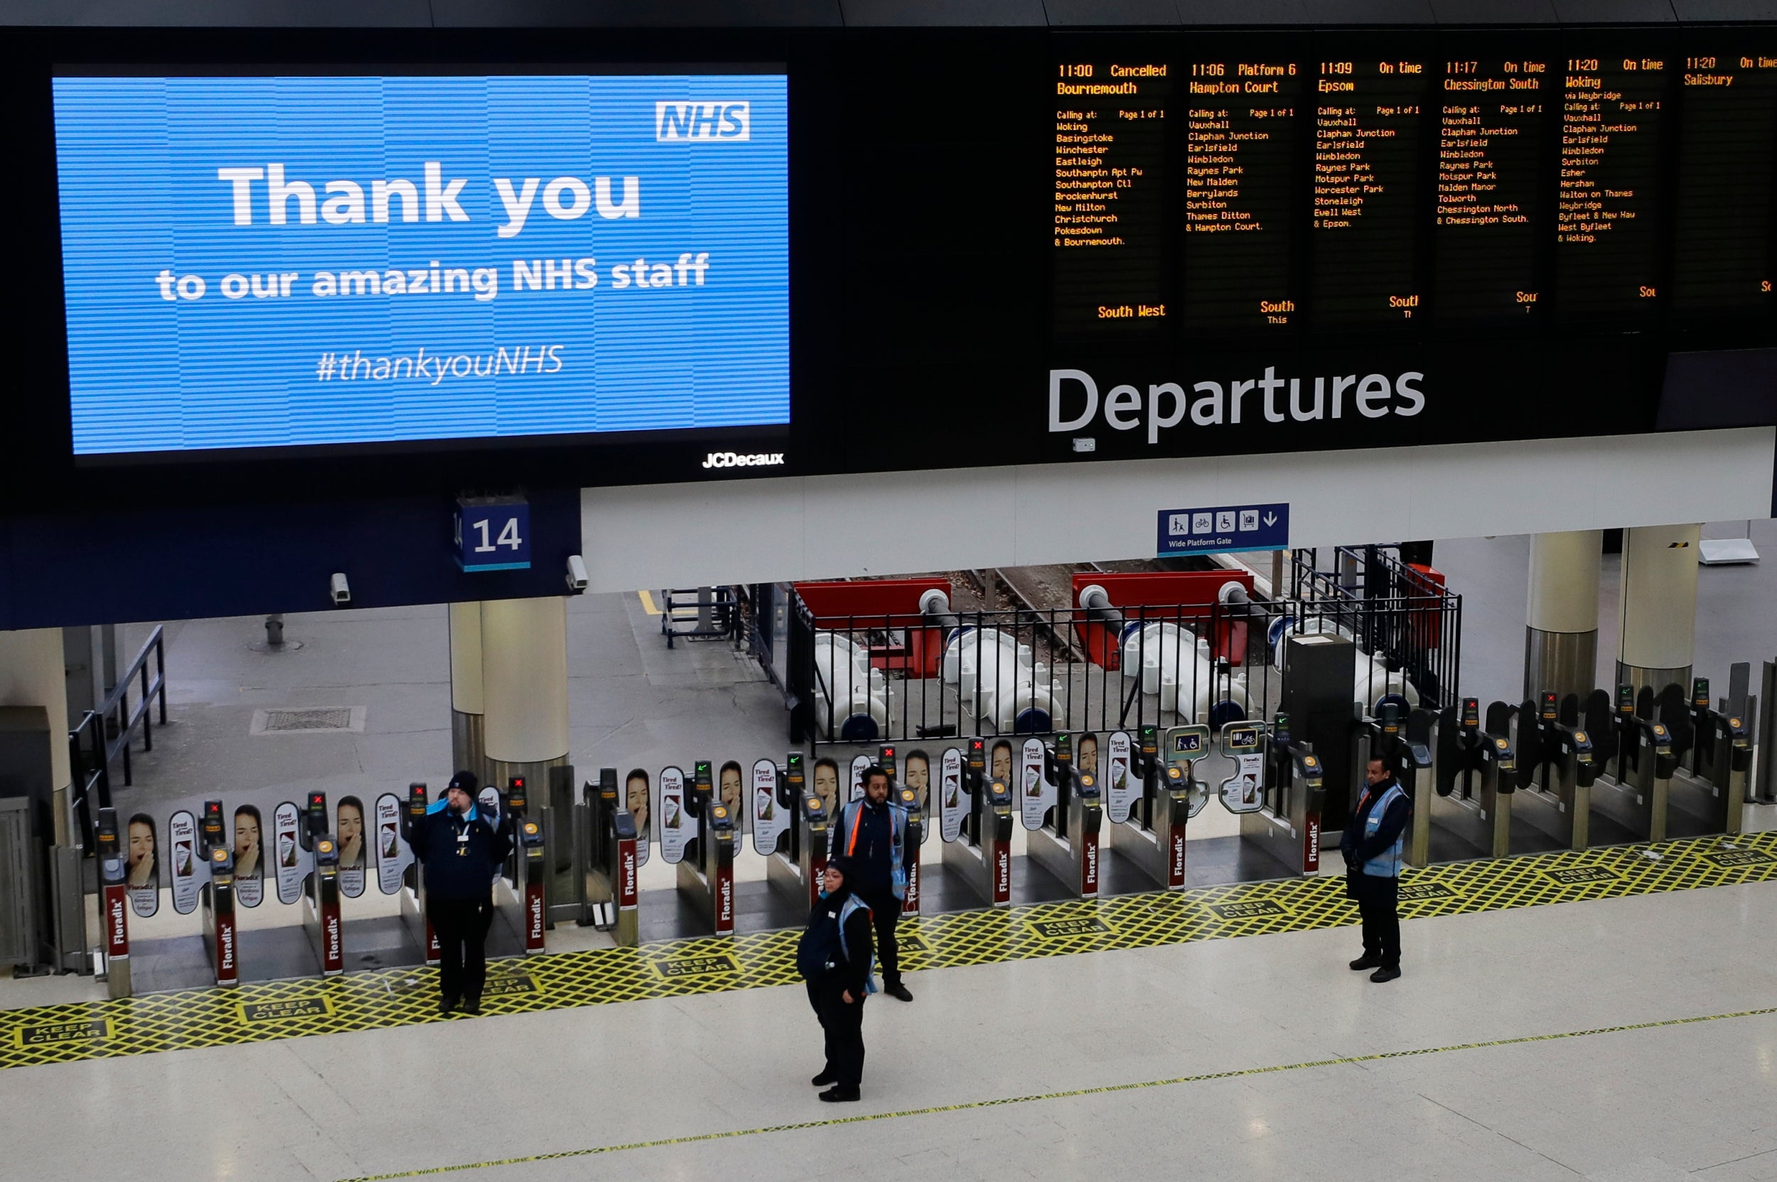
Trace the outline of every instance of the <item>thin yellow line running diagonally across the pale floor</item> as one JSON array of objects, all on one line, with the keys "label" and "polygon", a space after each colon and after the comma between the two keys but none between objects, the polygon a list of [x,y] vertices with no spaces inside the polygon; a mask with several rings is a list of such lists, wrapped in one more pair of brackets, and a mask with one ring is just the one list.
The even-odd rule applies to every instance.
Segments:
[{"label": "thin yellow line running diagonally across the pale floor", "polygon": [[1349,1066],[1354,1063],[1379,1063],[1383,1059],[1409,1059],[1427,1054],[1446,1054],[1450,1050],[1482,1050],[1487,1047],[1516,1047],[1519,1043],[1557,1042],[1562,1038],[1590,1038],[1594,1034],[1624,1034],[1628,1031],[1651,1031],[1663,1026],[1693,1026],[1697,1022],[1722,1022],[1725,1018],[1757,1018],[1777,1013],[1777,1006],[1766,1010],[1740,1010],[1738,1013],[1706,1013],[1688,1018],[1658,1018],[1654,1022],[1631,1022],[1628,1026],[1598,1026],[1589,1031],[1557,1031],[1553,1034],[1519,1034],[1518,1038],[1493,1038],[1487,1042],[1450,1043],[1448,1047],[1409,1047],[1407,1050],[1377,1050],[1374,1054],[1352,1054],[1338,1059],[1308,1059],[1303,1063],[1272,1063],[1269,1066],[1239,1066],[1230,1072],[1205,1072],[1201,1075],[1175,1075],[1171,1079],[1143,1079],[1128,1084],[1100,1084],[1098,1088],[1068,1088],[1066,1091],[1038,1091],[1022,1097],[997,1097],[992,1100],[965,1100],[961,1104],[935,1104],[931,1107],[904,1107],[894,1113],[864,1113],[860,1116],[833,1116],[830,1120],[801,1120],[789,1125],[761,1125],[759,1129],[723,1129],[716,1132],[693,1132],[682,1138],[659,1138],[654,1141],[629,1141],[624,1145],[595,1145],[579,1150],[556,1150],[554,1154],[530,1154],[526,1157],[501,1157],[496,1161],[462,1162],[457,1166],[430,1166],[426,1170],[400,1170],[396,1173],[366,1173],[341,1182],[396,1182],[396,1178],[423,1178],[435,1173],[462,1173],[466,1170],[492,1170],[496,1166],[524,1166],[542,1161],[562,1161],[565,1157],[595,1157],[599,1154],[624,1154],[629,1150],[652,1150],[668,1145],[697,1145],[698,1141],[727,1141],[732,1138],[757,1138],[766,1132],[801,1132],[807,1129],[832,1129],[835,1125],[862,1125],[873,1120],[901,1120],[904,1116],[935,1116],[938,1113],[965,1113],[977,1107],[1000,1107],[1006,1104],[1036,1104],[1040,1100],[1072,1100],[1077,1097],[1109,1095],[1114,1091],[1137,1091],[1141,1088],[1173,1088],[1178,1084],[1203,1084],[1214,1079],[1240,1079],[1244,1075],[1271,1075],[1274,1072],[1299,1072],[1310,1066]]}]

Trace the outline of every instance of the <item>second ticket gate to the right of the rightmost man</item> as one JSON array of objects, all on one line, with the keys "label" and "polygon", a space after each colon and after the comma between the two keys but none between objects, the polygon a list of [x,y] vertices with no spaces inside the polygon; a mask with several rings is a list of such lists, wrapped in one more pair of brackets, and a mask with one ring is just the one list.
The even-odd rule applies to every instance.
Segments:
[{"label": "second ticket gate to the right of the rightmost man", "polygon": [[1505,702],[1487,706],[1487,731],[1498,732],[1507,720],[1518,754],[1512,816],[1564,850],[1585,850],[1592,837],[1592,809],[1608,791],[1594,791],[1603,780],[1592,732],[1578,725],[1578,699],[1567,699],[1566,718],[1557,695],[1548,691],[1516,709]]}]

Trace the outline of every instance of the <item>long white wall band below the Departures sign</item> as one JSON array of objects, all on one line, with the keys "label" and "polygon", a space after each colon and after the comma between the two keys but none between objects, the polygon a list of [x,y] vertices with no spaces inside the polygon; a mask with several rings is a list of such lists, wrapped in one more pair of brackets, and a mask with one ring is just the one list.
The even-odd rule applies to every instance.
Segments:
[{"label": "long white wall band below the Departures sign", "polygon": [[1151,558],[1162,508],[1292,546],[1772,515],[1777,428],[585,489],[590,590]]}]

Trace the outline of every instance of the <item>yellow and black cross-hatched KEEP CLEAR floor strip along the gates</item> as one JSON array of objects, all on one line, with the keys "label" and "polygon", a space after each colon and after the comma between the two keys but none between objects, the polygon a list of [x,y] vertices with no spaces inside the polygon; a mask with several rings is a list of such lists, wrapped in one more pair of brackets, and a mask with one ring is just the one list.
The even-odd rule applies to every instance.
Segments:
[{"label": "yellow and black cross-hatched KEEP CLEAR floor strip along the gates", "polygon": [[[1772,878],[1777,878],[1777,832],[1731,841],[1693,837],[1407,869],[1400,880],[1400,914],[1402,919],[1464,915]],[[901,924],[901,963],[908,970],[952,969],[1310,931],[1356,919],[1343,878],[1285,878],[910,919]],[[482,1010],[531,1013],[793,985],[796,937],[796,931],[759,931],[503,960],[489,967]],[[267,981],[0,1011],[0,1066],[450,1020],[455,1018],[437,1013],[435,970],[380,969],[331,981]]]}]

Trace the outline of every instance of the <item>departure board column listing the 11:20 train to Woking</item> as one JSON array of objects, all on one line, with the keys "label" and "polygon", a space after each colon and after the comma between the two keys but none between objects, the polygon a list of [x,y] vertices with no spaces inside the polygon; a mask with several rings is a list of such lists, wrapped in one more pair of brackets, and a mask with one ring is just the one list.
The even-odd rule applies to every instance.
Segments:
[{"label": "departure board column listing the 11:20 train to Woking", "polygon": [[1573,57],[1562,71],[1555,284],[1564,320],[1658,315],[1663,57]]}]

